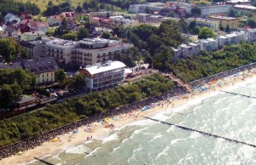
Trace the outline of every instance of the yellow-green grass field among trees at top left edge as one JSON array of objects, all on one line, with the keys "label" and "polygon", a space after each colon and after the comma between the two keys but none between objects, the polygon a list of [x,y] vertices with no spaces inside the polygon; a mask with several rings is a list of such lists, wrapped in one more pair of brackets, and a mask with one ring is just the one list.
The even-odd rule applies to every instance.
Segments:
[{"label": "yellow-green grass field among trees at top left edge", "polygon": [[[31,3],[36,3],[38,5],[38,8],[41,10],[41,13],[46,10],[48,2],[51,1],[54,4],[60,4],[60,3],[65,3],[66,0],[16,0],[17,2],[22,2],[26,3],[30,1]],[[84,3],[84,0],[69,0],[71,5],[73,7],[77,7],[79,4],[82,6]]]}]

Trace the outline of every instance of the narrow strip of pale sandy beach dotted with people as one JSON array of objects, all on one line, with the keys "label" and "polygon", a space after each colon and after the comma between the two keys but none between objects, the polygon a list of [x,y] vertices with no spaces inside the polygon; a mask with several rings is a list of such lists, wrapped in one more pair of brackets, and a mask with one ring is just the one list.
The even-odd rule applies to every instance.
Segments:
[{"label": "narrow strip of pale sandy beach dotted with people", "polygon": [[[137,110],[132,112],[132,114],[125,114],[121,118],[119,117],[118,120],[112,119],[109,123],[113,124],[115,126],[115,129],[118,129],[124,127],[126,124],[129,124],[131,122],[144,120],[145,118],[143,116],[153,117],[157,113],[165,111],[166,108],[173,108],[175,109],[175,111],[178,111],[179,109],[182,109],[183,105],[193,104],[195,100],[203,100],[207,97],[211,97],[211,95],[216,94],[218,90],[229,91],[230,88],[236,88],[237,86],[241,85],[242,83],[245,83],[249,79],[256,79],[256,74],[252,73],[250,76],[247,76],[245,80],[243,80],[243,77],[241,76],[233,77],[230,78],[229,81],[226,81],[223,85],[217,86],[216,88],[208,88],[203,93],[196,92],[194,94],[188,94],[188,99],[180,97],[177,100],[171,100],[171,104],[169,103],[169,100],[166,100],[165,102],[160,102],[159,106],[151,108],[147,111]],[[4,158],[2,161],[0,161],[0,164],[26,164],[27,162],[31,162],[32,160],[34,160],[33,156],[42,158],[44,156],[48,156],[49,154],[54,154],[59,151],[67,150],[72,146],[84,143],[87,140],[87,137],[90,136],[92,136],[92,139],[103,139],[104,137],[107,137],[108,134],[112,131],[111,128],[104,128],[104,125],[100,122],[91,123],[90,126],[90,128],[93,129],[92,133],[85,132],[84,127],[81,127],[79,128],[77,134],[73,134],[72,132],[70,132],[69,134],[64,134],[61,137],[59,137],[59,139],[56,140],[55,142],[45,142],[43,145],[40,145],[30,151],[25,151],[20,156],[16,155]]]}]

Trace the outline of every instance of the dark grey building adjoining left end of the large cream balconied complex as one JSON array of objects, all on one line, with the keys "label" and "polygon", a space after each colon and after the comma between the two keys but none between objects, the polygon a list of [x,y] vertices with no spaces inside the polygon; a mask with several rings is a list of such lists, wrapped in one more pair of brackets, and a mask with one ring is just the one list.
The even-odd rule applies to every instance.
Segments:
[{"label": "dark grey building adjoining left end of the large cream balconied complex", "polygon": [[20,45],[26,49],[27,59],[39,59],[42,56],[42,41],[21,41]]}]

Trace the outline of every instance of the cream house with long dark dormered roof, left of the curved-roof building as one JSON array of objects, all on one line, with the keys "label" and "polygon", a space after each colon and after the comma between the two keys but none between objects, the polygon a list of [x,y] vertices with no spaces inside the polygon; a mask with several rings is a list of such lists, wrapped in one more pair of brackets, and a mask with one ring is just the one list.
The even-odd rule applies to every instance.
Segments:
[{"label": "cream house with long dark dormered roof, left of the curved-roof building", "polygon": [[36,76],[37,83],[55,83],[55,71],[60,69],[53,57],[24,60],[21,67],[31,71]]}]

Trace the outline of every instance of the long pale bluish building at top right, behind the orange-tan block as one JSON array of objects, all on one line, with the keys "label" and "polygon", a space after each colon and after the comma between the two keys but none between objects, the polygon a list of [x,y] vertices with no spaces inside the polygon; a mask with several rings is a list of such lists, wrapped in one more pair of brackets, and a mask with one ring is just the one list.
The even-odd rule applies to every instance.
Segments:
[{"label": "long pale bluish building at top right, behind the orange-tan block", "polygon": [[198,6],[198,8],[201,9],[201,14],[203,16],[209,16],[214,14],[224,15],[230,12],[231,5],[230,4],[207,5],[207,6]]}]

